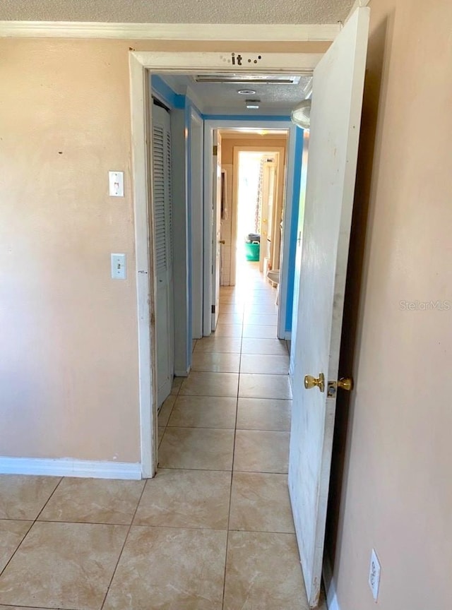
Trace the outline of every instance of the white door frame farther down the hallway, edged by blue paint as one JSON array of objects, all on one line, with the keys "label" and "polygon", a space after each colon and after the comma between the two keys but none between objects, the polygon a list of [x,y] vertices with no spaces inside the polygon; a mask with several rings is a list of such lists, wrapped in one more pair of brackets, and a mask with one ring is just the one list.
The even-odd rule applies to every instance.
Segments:
[{"label": "white door frame farther down the hallway, edged by blue paint", "polygon": [[[237,116],[236,119],[207,119],[204,122],[204,201],[211,201],[213,197],[212,191],[212,175],[213,175],[213,160],[212,155],[208,155],[208,151],[212,150],[213,146],[213,130],[214,129],[233,129],[240,127],[241,129],[287,129],[287,163],[285,173],[285,222],[283,223],[283,257],[281,260],[280,269],[280,306],[278,308],[278,337],[285,339],[285,319],[287,309],[287,278],[289,276],[289,249],[290,249],[290,222],[286,219],[292,217],[292,204],[295,181],[295,140],[297,127],[291,121],[255,121],[244,119],[243,116]],[[263,145],[262,150],[270,150],[271,145]],[[261,149],[259,149],[261,150]],[[273,150],[273,149],[271,149]],[[206,206],[207,207],[207,206]],[[204,219],[204,282],[211,282],[211,265],[212,265],[212,227],[210,227],[209,210],[206,210]],[[234,229],[232,229],[234,232]],[[235,272],[234,272],[235,273]],[[210,277],[210,279],[209,279]],[[211,283],[207,284],[207,291]],[[209,292],[210,294],[210,292]],[[204,302],[204,320],[205,328],[206,321],[210,320],[210,301]],[[206,333],[205,333],[206,334]],[[210,334],[210,333],[209,333]]]}]

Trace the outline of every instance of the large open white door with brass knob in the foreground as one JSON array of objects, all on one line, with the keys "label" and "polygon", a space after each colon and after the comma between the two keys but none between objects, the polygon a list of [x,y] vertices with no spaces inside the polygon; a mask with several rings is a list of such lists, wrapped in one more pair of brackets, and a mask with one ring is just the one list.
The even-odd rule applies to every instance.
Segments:
[{"label": "large open white door with brass knob in the foreground", "polygon": [[[289,488],[309,605],[319,602],[350,225],[369,30],[358,8],[314,70]],[[304,387],[309,375],[324,388]],[[312,379],[309,385],[312,383]],[[343,390],[340,390],[343,391]]]}]

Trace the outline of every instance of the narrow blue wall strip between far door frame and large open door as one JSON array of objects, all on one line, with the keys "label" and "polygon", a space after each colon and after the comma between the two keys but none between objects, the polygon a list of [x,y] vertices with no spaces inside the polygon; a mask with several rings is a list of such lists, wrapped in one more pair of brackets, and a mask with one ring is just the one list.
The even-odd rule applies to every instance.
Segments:
[{"label": "narrow blue wall strip between far door frame and large open door", "polygon": [[285,330],[292,330],[292,310],[294,301],[295,254],[297,252],[297,230],[299,215],[299,191],[302,178],[303,130],[297,127],[295,136],[295,168],[292,198],[292,217],[290,218],[289,267],[287,276],[287,304],[285,311]]}]

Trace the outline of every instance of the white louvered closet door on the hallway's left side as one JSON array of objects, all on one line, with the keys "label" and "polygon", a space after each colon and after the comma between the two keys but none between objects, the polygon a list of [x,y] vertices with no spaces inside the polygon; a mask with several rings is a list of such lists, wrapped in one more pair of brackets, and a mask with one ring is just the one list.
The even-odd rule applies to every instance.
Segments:
[{"label": "white louvered closet door on the hallway's left side", "polygon": [[158,406],[171,392],[174,374],[172,275],[171,129],[169,112],[153,104],[153,194],[157,299]]}]

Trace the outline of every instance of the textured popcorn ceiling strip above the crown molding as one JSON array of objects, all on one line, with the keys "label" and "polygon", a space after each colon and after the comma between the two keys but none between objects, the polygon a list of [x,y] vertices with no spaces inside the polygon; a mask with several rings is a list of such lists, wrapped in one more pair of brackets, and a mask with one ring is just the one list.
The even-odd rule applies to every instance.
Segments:
[{"label": "textured popcorn ceiling strip above the crown molding", "polygon": [[0,0],[0,20],[336,23],[353,0]]}]

